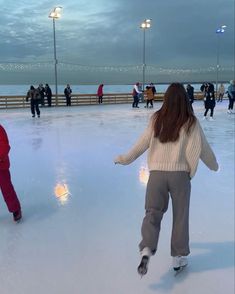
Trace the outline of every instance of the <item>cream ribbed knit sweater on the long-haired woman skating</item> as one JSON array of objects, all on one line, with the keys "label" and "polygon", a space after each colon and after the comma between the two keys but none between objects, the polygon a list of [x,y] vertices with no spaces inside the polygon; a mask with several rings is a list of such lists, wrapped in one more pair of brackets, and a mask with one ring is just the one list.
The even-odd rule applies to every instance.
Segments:
[{"label": "cream ribbed knit sweater on the long-haired woman skating", "polygon": [[161,143],[154,137],[152,120],[142,136],[127,154],[119,155],[114,162],[130,164],[148,149],[149,171],[187,171],[192,178],[197,170],[199,159],[214,171],[218,170],[215,155],[208,144],[203,130],[196,120],[187,134],[184,127],[176,142]]}]

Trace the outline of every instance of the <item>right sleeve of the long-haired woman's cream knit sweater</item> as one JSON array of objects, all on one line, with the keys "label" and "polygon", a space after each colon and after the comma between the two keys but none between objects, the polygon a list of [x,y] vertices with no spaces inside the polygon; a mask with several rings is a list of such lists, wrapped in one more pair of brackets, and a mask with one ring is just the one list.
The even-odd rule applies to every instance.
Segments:
[{"label": "right sleeve of the long-haired woman's cream knit sweater", "polygon": [[215,154],[213,150],[211,149],[209,143],[207,142],[206,136],[199,125],[199,131],[201,136],[201,154],[200,159],[204,162],[204,164],[211,170],[217,171],[219,168],[219,165],[217,163]]}]

